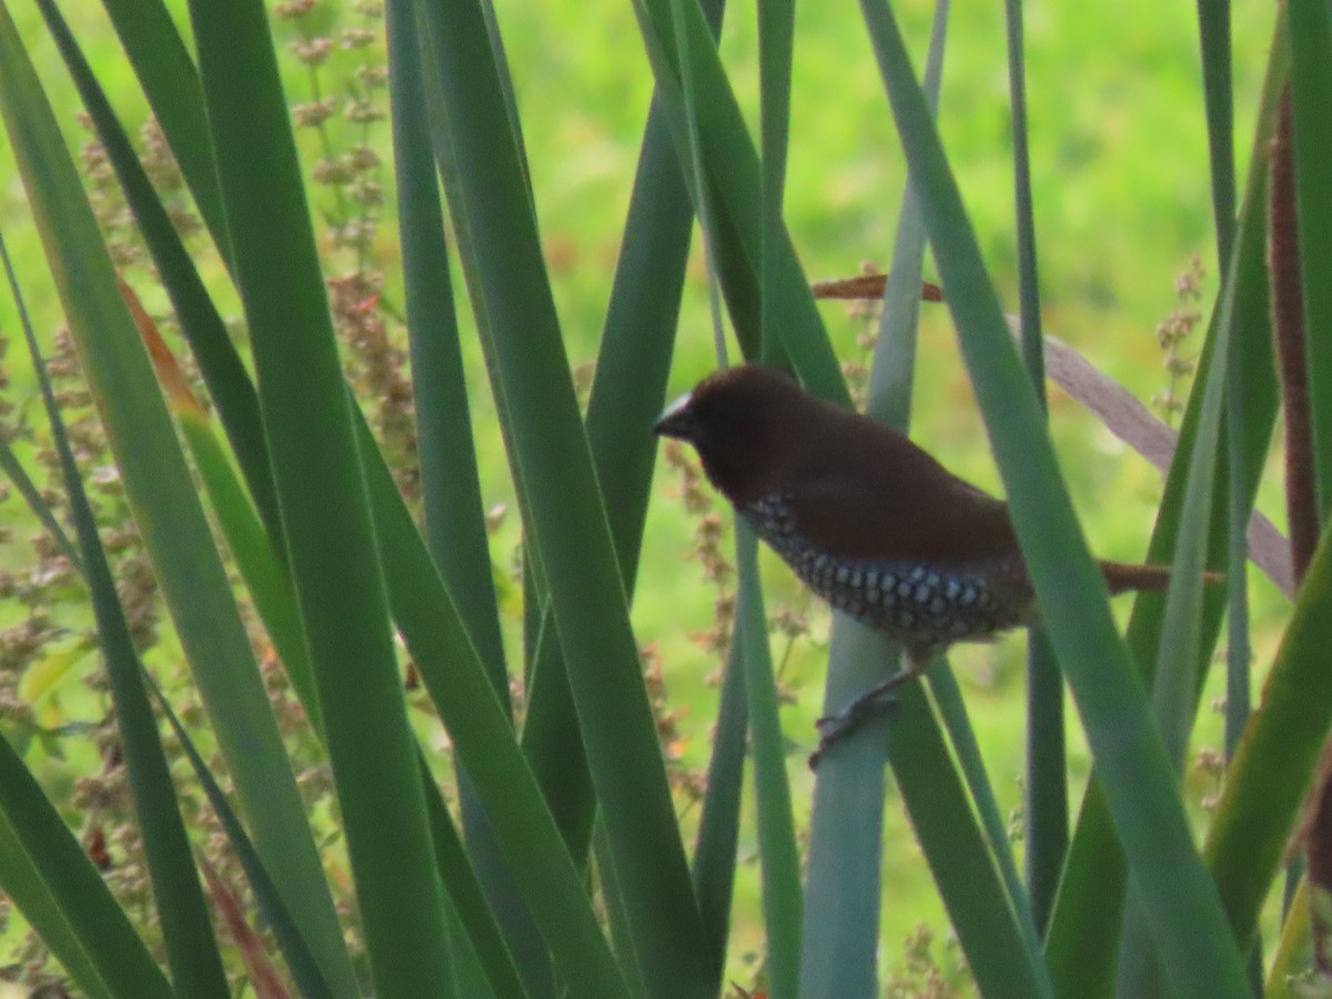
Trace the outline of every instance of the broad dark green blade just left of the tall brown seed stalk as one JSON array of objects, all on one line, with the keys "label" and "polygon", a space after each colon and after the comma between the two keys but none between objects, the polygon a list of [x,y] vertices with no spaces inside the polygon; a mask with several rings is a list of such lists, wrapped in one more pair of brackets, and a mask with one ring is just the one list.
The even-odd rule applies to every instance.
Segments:
[{"label": "broad dark green blade just left of the tall brown seed stalk", "polygon": [[190,16],[366,951],[381,994],[429,995],[450,982],[444,895],[268,20]]}]

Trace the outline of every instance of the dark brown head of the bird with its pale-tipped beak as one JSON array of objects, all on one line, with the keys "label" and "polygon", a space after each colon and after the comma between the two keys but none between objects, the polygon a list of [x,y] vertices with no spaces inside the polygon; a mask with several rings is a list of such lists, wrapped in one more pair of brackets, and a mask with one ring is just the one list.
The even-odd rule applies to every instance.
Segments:
[{"label": "dark brown head of the bird with its pale-tipped beak", "polygon": [[751,364],[701,381],[666,406],[653,433],[694,445],[711,484],[745,503],[783,488],[822,405],[785,373]]}]

